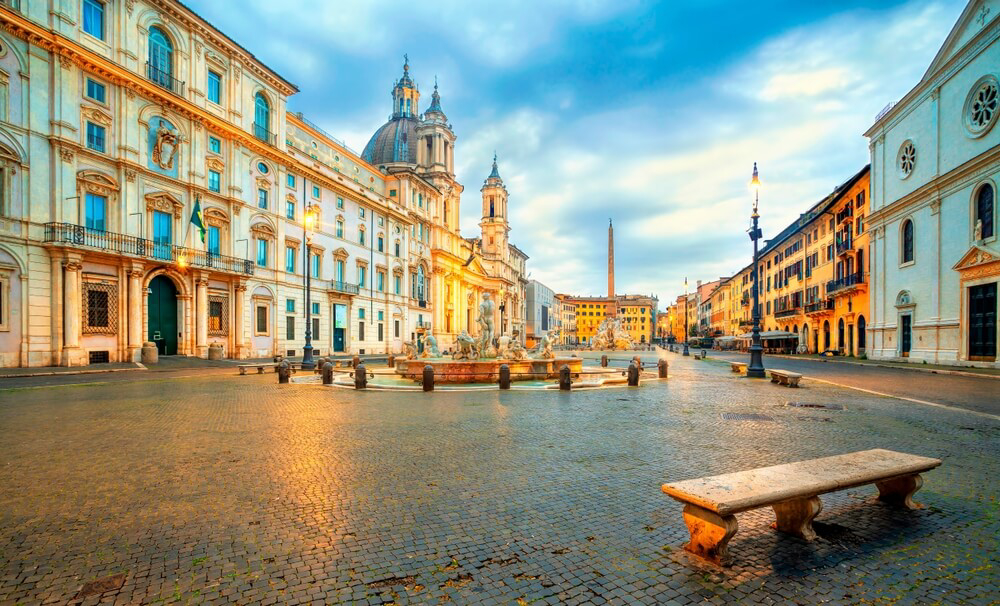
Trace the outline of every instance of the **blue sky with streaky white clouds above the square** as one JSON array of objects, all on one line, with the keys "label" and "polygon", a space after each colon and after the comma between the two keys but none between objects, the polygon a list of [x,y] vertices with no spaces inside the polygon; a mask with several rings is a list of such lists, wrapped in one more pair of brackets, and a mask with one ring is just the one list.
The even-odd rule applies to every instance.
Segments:
[{"label": "blue sky with streaky white clouds above the square", "polygon": [[[961,0],[189,0],[291,80],[289,101],[363,149],[403,53],[421,109],[437,76],[458,136],[462,234],[478,233],[493,150],[511,240],[557,292],[660,307],[685,276],[749,262],[753,163],[773,236],[868,162],[862,133],[920,79]],[[239,7],[234,10],[234,7]],[[317,8],[317,6],[324,8]]]}]

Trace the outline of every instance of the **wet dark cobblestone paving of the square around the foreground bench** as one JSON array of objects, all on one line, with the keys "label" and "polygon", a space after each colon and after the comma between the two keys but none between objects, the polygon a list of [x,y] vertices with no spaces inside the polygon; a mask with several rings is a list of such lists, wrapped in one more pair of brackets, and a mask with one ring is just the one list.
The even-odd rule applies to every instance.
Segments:
[{"label": "wet dark cobblestone paving of the square around the foreground bench", "polygon": [[[669,381],[576,393],[0,391],[0,431],[3,604],[986,604],[1000,585],[1000,422],[680,357]],[[680,549],[664,481],[873,447],[944,459],[926,509],[861,487],[822,497],[812,543],[757,510],[732,568]]]}]

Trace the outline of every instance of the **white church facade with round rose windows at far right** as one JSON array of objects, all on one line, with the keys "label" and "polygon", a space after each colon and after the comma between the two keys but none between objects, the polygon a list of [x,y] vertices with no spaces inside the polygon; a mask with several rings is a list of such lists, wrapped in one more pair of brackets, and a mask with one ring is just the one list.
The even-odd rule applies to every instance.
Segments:
[{"label": "white church facade with round rose windows at far right", "polygon": [[923,79],[866,133],[872,358],[997,366],[998,38],[1000,2],[969,2]]}]

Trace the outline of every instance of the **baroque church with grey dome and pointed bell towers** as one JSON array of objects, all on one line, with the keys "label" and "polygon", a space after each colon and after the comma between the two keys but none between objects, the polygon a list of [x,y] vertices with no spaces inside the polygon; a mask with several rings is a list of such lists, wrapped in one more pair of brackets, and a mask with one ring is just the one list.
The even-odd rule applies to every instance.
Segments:
[{"label": "baroque church with grey dome and pointed bell towers", "polygon": [[[400,183],[399,189],[389,190],[390,198],[409,199],[411,205],[416,200],[418,208],[428,210],[432,331],[442,348],[450,347],[462,331],[475,334],[479,304],[489,295],[497,310],[497,335],[517,332],[523,343],[528,256],[508,239],[508,192],[496,156],[480,188],[480,235],[464,238],[459,230],[464,187],[455,179],[455,133],[441,107],[437,83],[430,106],[420,114],[420,91],[409,69],[407,61],[393,85],[392,115],[372,135],[362,159]],[[414,192],[418,185],[425,193]]]}]

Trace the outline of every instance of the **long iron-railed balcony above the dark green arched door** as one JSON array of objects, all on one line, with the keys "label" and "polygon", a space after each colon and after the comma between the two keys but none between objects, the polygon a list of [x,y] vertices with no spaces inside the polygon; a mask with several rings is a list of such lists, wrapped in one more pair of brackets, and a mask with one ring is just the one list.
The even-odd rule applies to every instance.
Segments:
[{"label": "long iron-railed balcony above the dark green arched door", "polygon": [[72,223],[46,223],[45,241],[233,274],[252,276],[254,273],[254,264],[247,259],[172,244],[155,244],[143,238],[88,229]]}]

